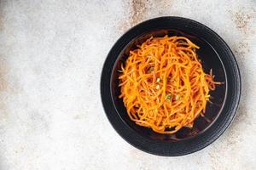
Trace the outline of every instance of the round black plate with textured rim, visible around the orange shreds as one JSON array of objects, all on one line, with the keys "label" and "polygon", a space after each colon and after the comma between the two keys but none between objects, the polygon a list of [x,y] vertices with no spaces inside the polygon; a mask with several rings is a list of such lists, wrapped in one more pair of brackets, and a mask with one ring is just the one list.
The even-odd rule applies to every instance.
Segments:
[{"label": "round black plate with textured rim, visible around the orange shreds", "polygon": [[[215,80],[224,82],[211,93],[212,103],[207,104],[206,116],[199,116],[194,127],[183,127],[177,133],[154,133],[147,127],[137,126],[126,114],[119,99],[119,66],[129,51],[148,37],[184,36],[201,48],[197,54],[203,69],[212,68]],[[224,132],[236,114],[241,94],[241,78],[236,59],[228,45],[214,31],[194,20],[180,17],[160,17],[147,20],[127,31],[114,44],[102,69],[102,104],[108,120],[127,142],[140,150],[160,156],[181,156],[201,150]]]}]

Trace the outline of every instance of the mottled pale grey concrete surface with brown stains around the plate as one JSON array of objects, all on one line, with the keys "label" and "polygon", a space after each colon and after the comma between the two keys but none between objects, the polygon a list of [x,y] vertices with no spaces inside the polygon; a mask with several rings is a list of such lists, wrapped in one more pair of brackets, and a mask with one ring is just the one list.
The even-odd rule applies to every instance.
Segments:
[{"label": "mottled pale grey concrete surface with brown stains around the plate", "polygon": [[[131,26],[177,15],[236,54],[242,97],[221,138],[189,156],[152,156],[113,130],[101,69]],[[256,169],[256,1],[1,0],[0,169]]]}]

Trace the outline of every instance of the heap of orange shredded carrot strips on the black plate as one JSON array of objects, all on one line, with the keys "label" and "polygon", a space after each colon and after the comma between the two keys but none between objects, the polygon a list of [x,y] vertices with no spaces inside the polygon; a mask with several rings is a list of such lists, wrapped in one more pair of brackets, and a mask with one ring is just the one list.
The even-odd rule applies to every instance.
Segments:
[{"label": "heap of orange shredded carrot strips on the black plate", "polygon": [[195,43],[186,37],[150,37],[131,50],[121,65],[119,86],[131,121],[157,133],[193,127],[204,116],[209,92],[215,89],[212,70],[203,71]]}]

